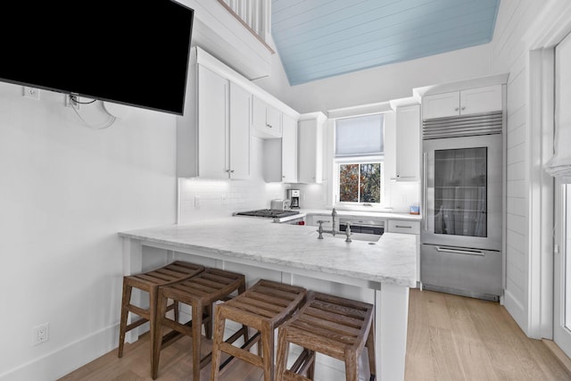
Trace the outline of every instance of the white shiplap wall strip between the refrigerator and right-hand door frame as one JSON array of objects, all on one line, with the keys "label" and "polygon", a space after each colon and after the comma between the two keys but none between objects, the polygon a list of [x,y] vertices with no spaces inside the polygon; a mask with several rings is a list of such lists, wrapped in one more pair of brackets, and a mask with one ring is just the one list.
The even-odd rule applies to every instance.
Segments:
[{"label": "white shiplap wall strip between the refrigerator and right-hand door frame", "polygon": [[[507,86],[507,274],[505,306],[526,334],[530,297],[529,54],[522,40],[529,25],[550,2],[503,0],[493,37],[493,67],[509,72]],[[552,3],[552,2],[551,2]],[[537,233],[539,234],[539,233]]]}]

